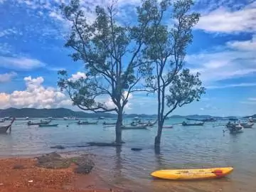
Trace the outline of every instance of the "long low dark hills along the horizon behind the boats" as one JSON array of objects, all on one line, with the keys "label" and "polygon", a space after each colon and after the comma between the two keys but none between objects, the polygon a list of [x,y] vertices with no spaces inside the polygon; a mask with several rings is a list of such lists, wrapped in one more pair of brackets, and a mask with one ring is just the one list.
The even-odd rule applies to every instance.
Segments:
[{"label": "long low dark hills along the horizon behind the boats", "polygon": [[[35,108],[8,108],[6,110],[0,110],[0,117],[53,117],[53,118],[61,118],[61,117],[80,117],[80,118],[97,118],[97,117],[106,117],[106,118],[114,118],[117,117],[117,114],[112,113],[88,113],[88,112],[75,112],[73,110],[65,109],[65,108],[57,108],[57,109],[35,109]],[[156,118],[156,114],[124,114],[124,117],[143,117],[143,118]],[[213,117],[210,115],[198,115],[192,114],[187,116],[181,115],[172,115],[170,118],[191,118],[191,119],[206,119],[209,117]],[[255,114],[256,117],[256,114]],[[222,117],[214,117],[214,118],[222,118]],[[224,117],[226,119],[235,118],[235,117]]]}]

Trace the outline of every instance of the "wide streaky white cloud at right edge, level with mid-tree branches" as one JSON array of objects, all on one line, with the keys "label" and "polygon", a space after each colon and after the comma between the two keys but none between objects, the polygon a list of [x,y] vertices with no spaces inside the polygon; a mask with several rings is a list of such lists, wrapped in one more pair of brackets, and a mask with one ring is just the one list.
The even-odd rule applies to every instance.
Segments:
[{"label": "wide streaky white cloud at right edge, level with mid-tree branches", "polygon": [[249,41],[230,41],[222,48],[188,55],[192,73],[201,73],[206,84],[256,73],[255,36]]}]

